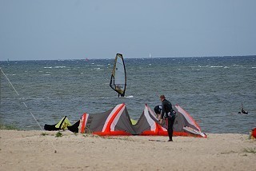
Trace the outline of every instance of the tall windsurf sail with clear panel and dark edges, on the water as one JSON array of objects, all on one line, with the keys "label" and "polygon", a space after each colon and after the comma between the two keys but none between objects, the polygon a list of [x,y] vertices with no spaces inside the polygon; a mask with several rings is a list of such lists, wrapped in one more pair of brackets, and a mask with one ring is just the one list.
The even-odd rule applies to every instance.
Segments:
[{"label": "tall windsurf sail with clear panel and dark edges, on the water", "polygon": [[126,93],[126,66],[122,54],[117,54],[114,59],[114,67],[110,79],[110,87],[118,92],[118,96]]}]

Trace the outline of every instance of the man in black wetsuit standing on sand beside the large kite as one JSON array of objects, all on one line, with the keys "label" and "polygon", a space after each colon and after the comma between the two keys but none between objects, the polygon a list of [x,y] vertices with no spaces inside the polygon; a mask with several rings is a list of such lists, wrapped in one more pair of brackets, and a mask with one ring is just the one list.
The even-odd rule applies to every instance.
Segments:
[{"label": "man in black wetsuit standing on sand beside the large kite", "polygon": [[[174,133],[173,126],[174,126],[174,120],[175,120],[175,112],[174,112],[174,109],[172,108],[170,101],[166,100],[165,95],[161,95],[160,100],[162,101],[162,113],[161,113],[160,124],[162,124],[163,117],[165,117],[165,119],[167,118],[167,131],[169,136],[168,141],[173,141],[173,133]],[[174,114],[172,114],[172,112],[174,112]]]}]

